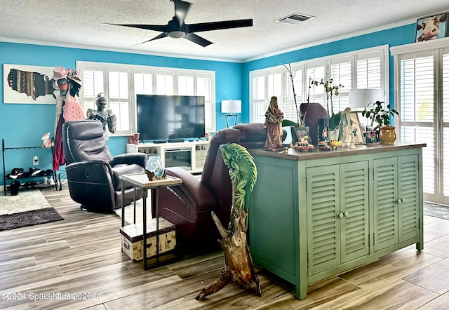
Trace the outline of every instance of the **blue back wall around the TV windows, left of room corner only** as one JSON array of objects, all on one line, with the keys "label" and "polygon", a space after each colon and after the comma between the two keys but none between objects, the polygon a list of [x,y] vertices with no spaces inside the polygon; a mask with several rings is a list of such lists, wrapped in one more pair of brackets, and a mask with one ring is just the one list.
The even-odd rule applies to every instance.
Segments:
[{"label": "blue back wall around the TV windows, left of room corner only", "polygon": [[[3,77],[4,64],[76,68],[76,61],[215,71],[217,130],[226,126],[225,116],[220,112],[221,100],[243,97],[243,64],[238,62],[0,42],[0,76]],[[3,82],[0,85],[0,136],[5,139],[6,147],[39,146],[43,133],[50,131],[53,136],[55,105],[4,104]],[[239,119],[242,119],[241,115]],[[108,146],[113,155],[121,154],[126,151],[126,137],[111,137]],[[7,150],[6,174],[15,167],[27,170],[32,166],[34,155],[39,156],[39,168],[51,168],[52,161],[48,149]],[[3,170],[0,170],[0,184],[3,184]]]}]

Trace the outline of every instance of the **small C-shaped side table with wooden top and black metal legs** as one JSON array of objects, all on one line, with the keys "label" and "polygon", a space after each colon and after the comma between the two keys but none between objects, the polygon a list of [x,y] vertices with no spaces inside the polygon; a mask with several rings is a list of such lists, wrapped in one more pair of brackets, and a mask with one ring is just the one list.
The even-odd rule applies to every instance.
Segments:
[{"label": "small C-shaped side table with wooden top and black metal legs", "polygon": [[[147,174],[140,173],[137,175],[122,175],[121,177],[121,226],[125,226],[125,207],[123,199],[125,196],[125,184],[133,184],[133,187],[140,187],[143,189],[143,269],[148,270],[147,265],[147,191],[152,189],[154,194],[155,208],[156,208],[156,266],[159,264],[159,187],[171,187],[182,184],[182,179],[178,177],[171,177],[167,175],[166,179],[149,181]],[[135,200],[134,200],[134,222],[135,222]]]}]

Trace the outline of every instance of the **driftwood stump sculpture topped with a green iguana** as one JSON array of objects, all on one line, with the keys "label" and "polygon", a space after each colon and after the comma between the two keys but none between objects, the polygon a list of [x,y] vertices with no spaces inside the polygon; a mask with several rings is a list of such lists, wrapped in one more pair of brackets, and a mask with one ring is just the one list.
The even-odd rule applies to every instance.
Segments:
[{"label": "driftwood stump sculpture topped with a green iguana", "polygon": [[253,264],[246,239],[249,195],[257,179],[257,170],[253,156],[241,145],[223,144],[220,149],[223,161],[229,167],[229,176],[232,181],[231,222],[228,229],[223,227],[215,213],[212,213],[212,217],[222,236],[219,242],[225,254],[225,267],[220,277],[203,288],[196,299],[203,299],[218,292],[231,281],[243,289],[250,288],[251,283],[254,282],[257,295],[261,297],[262,290],[257,278],[258,269]]}]

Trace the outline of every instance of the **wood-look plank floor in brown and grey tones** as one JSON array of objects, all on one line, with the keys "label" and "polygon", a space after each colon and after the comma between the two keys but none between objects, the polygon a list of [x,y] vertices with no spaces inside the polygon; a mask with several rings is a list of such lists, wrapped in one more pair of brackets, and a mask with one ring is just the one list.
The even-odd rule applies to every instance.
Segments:
[{"label": "wood-look plank floor in brown and grey tones", "polygon": [[[65,220],[0,231],[0,309],[449,309],[448,220],[424,217],[422,252],[315,283],[304,300],[262,270],[262,297],[229,284],[197,301],[220,274],[220,252],[143,271],[121,252],[119,217],[83,212],[67,186],[43,194]],[[30,299],[57,292],[85,299]]]}]

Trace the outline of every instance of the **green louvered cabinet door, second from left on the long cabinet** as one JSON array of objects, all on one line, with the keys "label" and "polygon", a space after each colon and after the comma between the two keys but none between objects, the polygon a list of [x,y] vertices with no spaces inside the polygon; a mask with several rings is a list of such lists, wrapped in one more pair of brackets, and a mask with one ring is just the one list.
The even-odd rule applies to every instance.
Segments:
[{"label": "green louvered cabinet door, second from left on the long cabinet", "polygon": [[369,248],[368,161],[340,165],[342,262],[367,255]]}]

